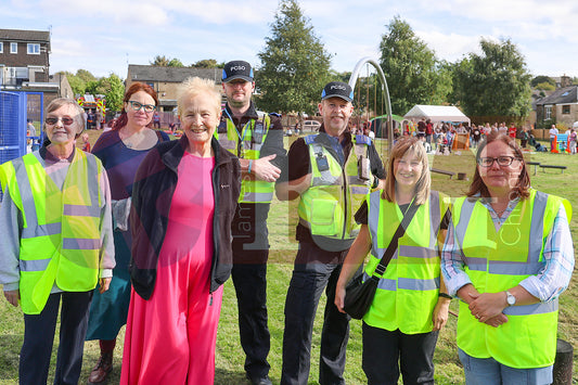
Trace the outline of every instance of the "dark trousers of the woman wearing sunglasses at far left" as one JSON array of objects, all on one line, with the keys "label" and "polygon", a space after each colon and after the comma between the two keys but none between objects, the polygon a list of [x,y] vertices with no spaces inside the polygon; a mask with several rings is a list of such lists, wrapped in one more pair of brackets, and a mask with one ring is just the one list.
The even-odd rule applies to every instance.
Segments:
[{"label": "dark trousers of the woman wearing sunglasses at far left", "polygon": [[54,293],[40,315],[24,315],[24,344],[20,358],[21,384],[46,384],[52,342],[62,298],[61,330],[54,384],[78,384],[92,293]]}]

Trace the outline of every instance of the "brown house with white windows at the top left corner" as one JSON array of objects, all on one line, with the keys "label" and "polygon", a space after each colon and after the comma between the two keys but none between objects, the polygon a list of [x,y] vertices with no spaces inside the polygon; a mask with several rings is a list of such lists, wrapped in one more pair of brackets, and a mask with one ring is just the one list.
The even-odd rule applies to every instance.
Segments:
[{"label": "brown house with white windows at the top left corner", "polygon": [[49,82],[50,33],[0,29],[0,89]]}]

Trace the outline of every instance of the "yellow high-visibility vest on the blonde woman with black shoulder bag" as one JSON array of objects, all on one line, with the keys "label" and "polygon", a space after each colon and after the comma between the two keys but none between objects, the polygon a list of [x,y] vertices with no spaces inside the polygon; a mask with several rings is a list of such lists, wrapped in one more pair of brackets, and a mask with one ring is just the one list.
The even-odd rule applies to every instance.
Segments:
[{"label": "yellow high-visibility vest on the blonde woman with black shoulder bag", "polygon": [[[370,194],[368,207],[371,255],[364,280],[373,275],[403,218],[398,204],[384,198],[382,191]],[[420,205],[377,283],[373,303],[363,317],[367,324],[388,331],[399,329],[404,334],[433,330],[440,280],[438,234],[448,207],[449,198],[437,191]]]}]

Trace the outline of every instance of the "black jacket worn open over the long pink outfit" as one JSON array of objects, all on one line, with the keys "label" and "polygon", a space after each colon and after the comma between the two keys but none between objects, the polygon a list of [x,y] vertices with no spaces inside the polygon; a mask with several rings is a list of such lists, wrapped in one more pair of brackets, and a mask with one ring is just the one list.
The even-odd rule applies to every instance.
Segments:
[{"label": "black jacket worn open over the long pink outfit", "polygon": [[[177,167],[187,144],[185,136],[178,141],[159,143],[142,161],[134,177],[130,214],[132,256],[129,270],[134,291],[144,299],[149,299],[154,291],[158,255],[167,232],[170,204],[177,187]],[[210,145],[215,153],[214,255],[209,288],[213,293],[231,274],[231,221],[241,191],[241,166],[239,159],[222,149],[215,138]]]}]

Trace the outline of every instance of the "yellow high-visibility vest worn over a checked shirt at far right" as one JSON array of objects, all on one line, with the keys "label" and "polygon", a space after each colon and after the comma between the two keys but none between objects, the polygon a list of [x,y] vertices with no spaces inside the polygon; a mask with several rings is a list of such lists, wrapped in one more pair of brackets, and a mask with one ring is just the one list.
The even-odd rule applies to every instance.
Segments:
[{"label": "yellow high-visibility vest worn over a checked shirt at far right", "polygon": [[[457,246],[464,254],[464,270],[479,293],[499,293],[538,274],[544,267],[543,245],[561,205],[568,222],[566,200],[530,190],[496,231],[479,198],[455,201],[453,223]],[[553,364],[556,350],[557,299],[503,310],[508,322],[498,328],[479,322],[460,301],[458,346],[475,358],[492,357],[518,369]]]}]

